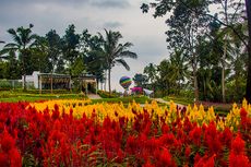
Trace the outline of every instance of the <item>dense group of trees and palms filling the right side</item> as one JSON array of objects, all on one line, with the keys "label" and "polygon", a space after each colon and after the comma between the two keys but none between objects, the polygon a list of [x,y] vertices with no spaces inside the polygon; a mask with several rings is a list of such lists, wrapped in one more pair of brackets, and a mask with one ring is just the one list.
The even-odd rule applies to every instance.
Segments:
[{"label": "dense group of trees and palms filling the right side", "polygon": [[153,84],[164,94],[192,90],[195,100],[251,102],[251,1],[155,0],[141,9],[168,15],[169,59],[146,67],[158,72]]}]

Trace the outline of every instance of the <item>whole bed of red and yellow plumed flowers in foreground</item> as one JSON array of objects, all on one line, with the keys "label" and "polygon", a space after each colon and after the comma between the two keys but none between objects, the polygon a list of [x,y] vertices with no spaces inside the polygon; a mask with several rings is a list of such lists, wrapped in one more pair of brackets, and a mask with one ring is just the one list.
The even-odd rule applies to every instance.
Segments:
[{"label": "whole bed of red and yellow plumed flowers in foreground", "polygon": [[48,100],[0,104],[0,165],[250,167],[251,105],[227,117],[203,106]]}]

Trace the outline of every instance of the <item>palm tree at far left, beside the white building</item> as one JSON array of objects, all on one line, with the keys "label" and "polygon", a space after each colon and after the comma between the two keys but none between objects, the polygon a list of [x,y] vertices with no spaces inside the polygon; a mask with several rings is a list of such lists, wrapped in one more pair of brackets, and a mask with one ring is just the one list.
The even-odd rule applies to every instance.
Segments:
[{"label": "palm tree at far left, beside the white building", "polygon": [[34,46],[34,41],[36,38],[36,35],[32,34],[32,27],[33,24],[29,24],[27,28],[21,26],[16,29],[8,29],[8,33],[13,38],[13,43],[9,43],[3,47],[3,52],[9,52],[13,50],[20,53],[22,73],[24,75],[24,91],[26,90],[26,60],[31,52],[31,48]]}]

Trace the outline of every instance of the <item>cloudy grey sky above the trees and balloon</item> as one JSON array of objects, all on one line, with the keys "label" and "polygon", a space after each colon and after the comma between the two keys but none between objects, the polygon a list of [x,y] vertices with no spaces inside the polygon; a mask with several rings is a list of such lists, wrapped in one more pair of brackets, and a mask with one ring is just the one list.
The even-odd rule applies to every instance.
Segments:
[{"label": "cloudy grey sky above the trees and balloon", "polygon": [[[131,70],[117,65],[111,70],[111,88],[123,91],[119,79],[143,73],[148,63],[158,64],[168,58],[165,17],[143,14],[140,7],[147,0],[1,0],[0,40],[11,41],[9,28],[34,24],[33,33],[44,36],[51,28],[60,36],[70,24],[76,33],[87,28],[91,34],[105,34],[104,28],[119,31],[121,43],[130,41],[138,59],[125,59]],[[0,48],[2,44],[0,44]],[[108,87],[107,87],[108,90]]]}]

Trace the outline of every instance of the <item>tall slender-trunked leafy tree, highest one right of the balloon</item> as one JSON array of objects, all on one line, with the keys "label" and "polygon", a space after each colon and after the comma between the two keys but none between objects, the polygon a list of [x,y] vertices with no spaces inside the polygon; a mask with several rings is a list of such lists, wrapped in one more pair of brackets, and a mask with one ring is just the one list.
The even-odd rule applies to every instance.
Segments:
[{"label": "tall slender-trunked leafy tree, highest one right of the balloon", "polygon": [[[205,31],[204,27],[208,22],[208,17],[198,14],[198,12],[206,13],[208,2],[191,0],[186,0],[184,2],[160,1],[152,5],[156,8],[154,16],[160,16],[166,14],[166,12],[171,12],[171,16],[166,21],[170,26],[170,29],[166,32],[168,48],[181,48],[188,56],[188,61],[192,68],[191,81],[193,82],[194,97],[195,100],[199,100],[199,55],[195,46],[198,45],[198,37]],[[163,7],[165,8],[163,9]]]}]

